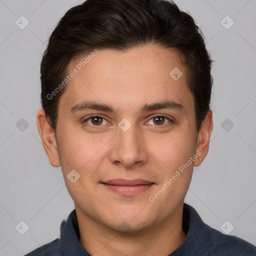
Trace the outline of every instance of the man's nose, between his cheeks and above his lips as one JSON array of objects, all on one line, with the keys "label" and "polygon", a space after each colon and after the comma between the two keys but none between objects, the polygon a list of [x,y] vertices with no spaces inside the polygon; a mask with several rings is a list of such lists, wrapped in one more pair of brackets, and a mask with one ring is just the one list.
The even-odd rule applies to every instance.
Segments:
[{"label": "man's nose, between his cheeks and above his lips", "polygon": [[126,131],[117,127],[116,132],[109,154],[111,162],[123,165],[121,167],[125,169],[132,168],[135,164],[145,163],[148,152],[142,132],[139,132],[135,125],[131,125]]}]

